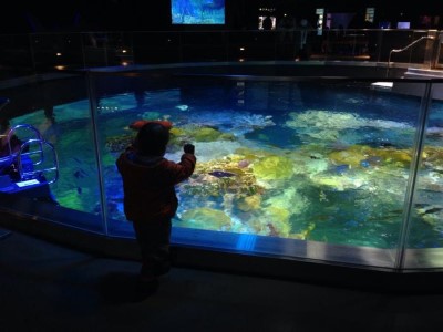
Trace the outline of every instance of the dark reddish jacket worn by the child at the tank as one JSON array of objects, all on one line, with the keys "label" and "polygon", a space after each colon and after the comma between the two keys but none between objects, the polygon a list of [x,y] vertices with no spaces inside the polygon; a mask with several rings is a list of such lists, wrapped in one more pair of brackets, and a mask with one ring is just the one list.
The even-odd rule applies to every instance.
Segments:
[{"label": "dark reddish jacket worn by the child at the tank", "polygon": [[122,153],[116,166],[123,178],[124,212],[130,221],[174,217],[178,200],[175,185],[187,179],[196,157],[183,154],[179,163],[161,156]]}]

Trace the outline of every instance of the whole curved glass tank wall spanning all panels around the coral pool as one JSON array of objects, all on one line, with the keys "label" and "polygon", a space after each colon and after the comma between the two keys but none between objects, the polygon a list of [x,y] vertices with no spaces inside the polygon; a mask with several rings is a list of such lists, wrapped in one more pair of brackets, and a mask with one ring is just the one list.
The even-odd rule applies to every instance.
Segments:
[{"label": "whole curved glass tank wall spanning all panels around the coral pool", "polygon": [[133,238],[115,160],[132,122],[168,120],[166,157],[192,142],[198,158],[176,188],[175,245],[443,267],[441,82],[178,72],[96,71],[2,90],[3,115],[40,131],[60,173],[55,201],[2,193],[2,209]]}]

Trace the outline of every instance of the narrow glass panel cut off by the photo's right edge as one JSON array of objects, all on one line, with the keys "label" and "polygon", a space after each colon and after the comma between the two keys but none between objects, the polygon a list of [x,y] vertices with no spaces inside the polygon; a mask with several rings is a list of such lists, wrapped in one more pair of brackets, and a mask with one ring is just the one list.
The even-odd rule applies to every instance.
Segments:
[{"label": "narrow glass panel cut off by the photo's right edge", "polygon": [[443,267],[443,84],[433,84],[415,194],[405,268]]}]

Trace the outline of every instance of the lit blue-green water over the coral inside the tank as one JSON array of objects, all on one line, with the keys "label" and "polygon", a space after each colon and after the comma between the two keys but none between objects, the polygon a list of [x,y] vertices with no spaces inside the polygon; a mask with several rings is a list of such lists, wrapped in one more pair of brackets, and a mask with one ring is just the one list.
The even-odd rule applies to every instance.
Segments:
[{"label": "lit blue-green water over the coral inside the tank", "polygon": [[[131,92],[106,96],[97,110],[112,225],[127,227],[115,158],[135,135],[128,124],[167,118],[174,131],[166,157],[178,160],[184,142],[193,142],[198,158],[189,181],[177,186],[175,226],[377,248],[398,245],[419,97],[368,86],[285,82],[183,84],[143,96],[138,105]],[[40,126],[53,139],[61,177],[52,189],[59,203],[99,214],[89,103],[59,105],[54,112],[49,127],[42,126],[42,111],[14,122]],[[435,102],[430,126],[439,126],[442,114],[443,105]],[[425,146],[440,152],[440,137],[429,137]],[[235,176],[217,176],[226,173]],[[435,208],[441,174],[435,160],[421,168],[411,247],[443,246]]]}]

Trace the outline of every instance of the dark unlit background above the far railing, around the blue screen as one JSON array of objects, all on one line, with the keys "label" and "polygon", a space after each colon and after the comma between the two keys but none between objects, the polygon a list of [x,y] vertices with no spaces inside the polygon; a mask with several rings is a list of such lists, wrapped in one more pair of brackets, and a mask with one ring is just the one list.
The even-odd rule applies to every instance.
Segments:
[{"label": "dark unlit background above the far railing, around the blue screen", "polygon": [[[171,0],[16,0],[2,2],[0,33],[55,31],[144,31],[198,29],[257,29],[259,8],[274,8],[279,18],[290,13],[296,19],[316,20],[316,8],[327,12],[364,13],[375,7],[375,22],[411,21],[411,28],[421,28],[421,15],[443,15],[443,6],[436,0],[226,0],[226,24],[214,27],[172,25]],[[439,27],[441,28],[441,22]]]}]

